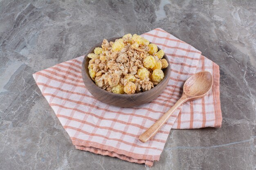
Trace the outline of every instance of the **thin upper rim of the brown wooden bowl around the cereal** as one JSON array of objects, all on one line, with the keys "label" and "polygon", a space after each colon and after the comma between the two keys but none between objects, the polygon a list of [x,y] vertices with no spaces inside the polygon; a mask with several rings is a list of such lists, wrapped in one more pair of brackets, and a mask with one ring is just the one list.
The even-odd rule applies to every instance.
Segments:
[{"label": "thin upper rim of the brown wooden bowl around the cereal", "polygon": [[[110,41],[113,41],[113,40],[116,40],[116,39],[119,39],[119,38],[122,38],[122,37],[108,38],[107,40],[108,40],[108,42],[110,42]],[[86,74],[85,62],[86,62],[86,58],[88,58],[87,55],[88,55],[89,53],[91,53],[96,47],[100,47],[100,45],[98,46],[98,44],[101,44],[101,43],[102,43],[102,42],[96,43],[90,50],[88,50],[88,52],[85,54],[85,56],[84,56],[84,58],[83,58],[83,62],[82,62],[82,66],[81,66],[81,67],[82,67],[82,78],[83,78],[84,84],[85,84],[85,81],[86,81],[86,80],[84,79],[84,76],[85,76],[87,79],[90,79],[90,82],[86,82],[86,83],[93,84],[95,87],[97,87],[97,88],[99,89],[99,91],[101,91],[101,92],[103,93],[103,95],[106,94],[106,95],[114,95],[114,96],[119,96],[119,97],[123,96],[123,97],[128,97],[128,98],[129,98],[129,97],[130,97],[130,98],[131,98],[131,97],[137,97],[137,96],[139,96],[139,95],[147,95],[147,94],[149,94],[149,93],[153,93],[153,92],[157,91],[161,85],[163,85],[166,81],[169,81],[170,75],[171,75],[171,68],[170,68],[170,64],[169,64],[169,61],[168,61],[168,57],[167,57],[166,54],[164,53],[163,58],[166,59],[167,62],[168,62],[168,66],[167,66],[166,68],[164,68],[164,69],[167,70],[167,74],[164,75],[164,79],[162,79],[161,82],[160,82],[159,84],[157,84],[157,86],[151,88],[150,90],[144,91],[144,92],[141,92],[141,93],[134,93],[134,94],[117,94],[117,93],[112,93],[112,92],[109,92],[109,91],[106,91],[106,90],[100,88],[99,86],[97,86],[97,85],[95,84],[95,82],[94,82],[94,81],[92,80],[92,78],[89,76],[89,73]],[[150,42],[150,43],[152,43],[152,42]],[[154,43],[153,43],[153,44],[154,44]],[[158,51],[161,50],[158,46],[157,46],[157,49],[158,49]],[[167,86],[167,85],[166,85],[166,86]],[[166,88],[166,87],[165,87],[165,88]]]}]

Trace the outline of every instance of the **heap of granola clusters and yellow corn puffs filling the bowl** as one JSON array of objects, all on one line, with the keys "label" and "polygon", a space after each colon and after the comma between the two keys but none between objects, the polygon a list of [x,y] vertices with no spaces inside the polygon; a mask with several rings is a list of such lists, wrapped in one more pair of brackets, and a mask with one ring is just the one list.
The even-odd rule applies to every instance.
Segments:
[{"label": "heap of granola clusters and yellow corn puffs filling the bowl", "polygon": [[154,88],[168,66],[164,51],[137,34],[126,34],[114,42],[104,39],[88,54],[89,75],[97,86],[116,94],[134,94]]}]

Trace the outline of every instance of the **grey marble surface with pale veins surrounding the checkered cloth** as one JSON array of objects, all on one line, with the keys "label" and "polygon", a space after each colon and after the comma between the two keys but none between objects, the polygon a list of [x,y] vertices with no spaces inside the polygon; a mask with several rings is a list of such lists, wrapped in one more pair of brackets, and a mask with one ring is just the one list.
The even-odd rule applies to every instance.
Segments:
[{"label": "grey marble surface with pale veins surrounding the checkered cloth", "polygon": [[[0,0],[1,170],[255,170],[255,0]],[[220,66],[222,128],[171,130],[152,168],[76,150],[32,73],[160,27]]]}]

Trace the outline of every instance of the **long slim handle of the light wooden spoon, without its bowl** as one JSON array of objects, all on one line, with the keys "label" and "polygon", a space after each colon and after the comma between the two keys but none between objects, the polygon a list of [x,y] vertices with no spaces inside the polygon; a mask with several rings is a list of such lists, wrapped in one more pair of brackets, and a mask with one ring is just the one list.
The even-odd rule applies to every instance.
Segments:
[{"label": "long slim handle of the light wooden spoon, without its bowl", "polygon": [[150,128],[148,128],[144,133],[139,136],[139,140],[142,142],[148,141],[151,137],[155,136],[157,131],[163,126],[163,124],[171,117],[173,112],[184,102],[186,102],[187,97],[182,95],[182,97],[171,107],[164,115],[158,119]]}]

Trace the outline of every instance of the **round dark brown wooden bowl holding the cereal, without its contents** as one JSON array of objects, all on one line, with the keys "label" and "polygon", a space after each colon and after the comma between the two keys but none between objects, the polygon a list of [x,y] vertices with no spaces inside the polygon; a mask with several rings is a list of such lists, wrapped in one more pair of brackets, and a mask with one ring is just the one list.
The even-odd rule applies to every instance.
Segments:
[{"label": "round dark brown wooden bowl holding the cereal, without its contents", "polygon": [[[110,38],[108,39],[108,41],[109,42],[115,41],[116,39],[119,39],[119,38],[122,38],[122,37]],[[82,77],[83,77],[83,82],[85,84],[85,88],[87,88],[88,91],[99,101],[106,104],[119,106],[119,107],[139,106],[141,104],[151,102],[153,99],[155,99],[164,91],[164,88],[166,88],[168,81],[170,79],[170,74],[171,74],[170,64],[168,65],[167,68],[163,69],[164,79],[162,79],[162,81],[157,86],[155,86],[154,88],[151,88],[149,91],[128,95],[128,94],[115,94],[115,93],[111,93],[106,90],[103,90],[93,82],[93,80],[91,79],[88,73],[88,64],[89,64],[90,58],[88,58],[87,55],[89,53],[93,53],[96,47],[101,47],[101,42],[93,46],[85,54],[85,57],[83,59],[83,64],[82,64]],[[157,48],[158,50],[160,50],[159,47]],[[168,58],[165,54],[163,58],[165,58],[168,61]]]}]

